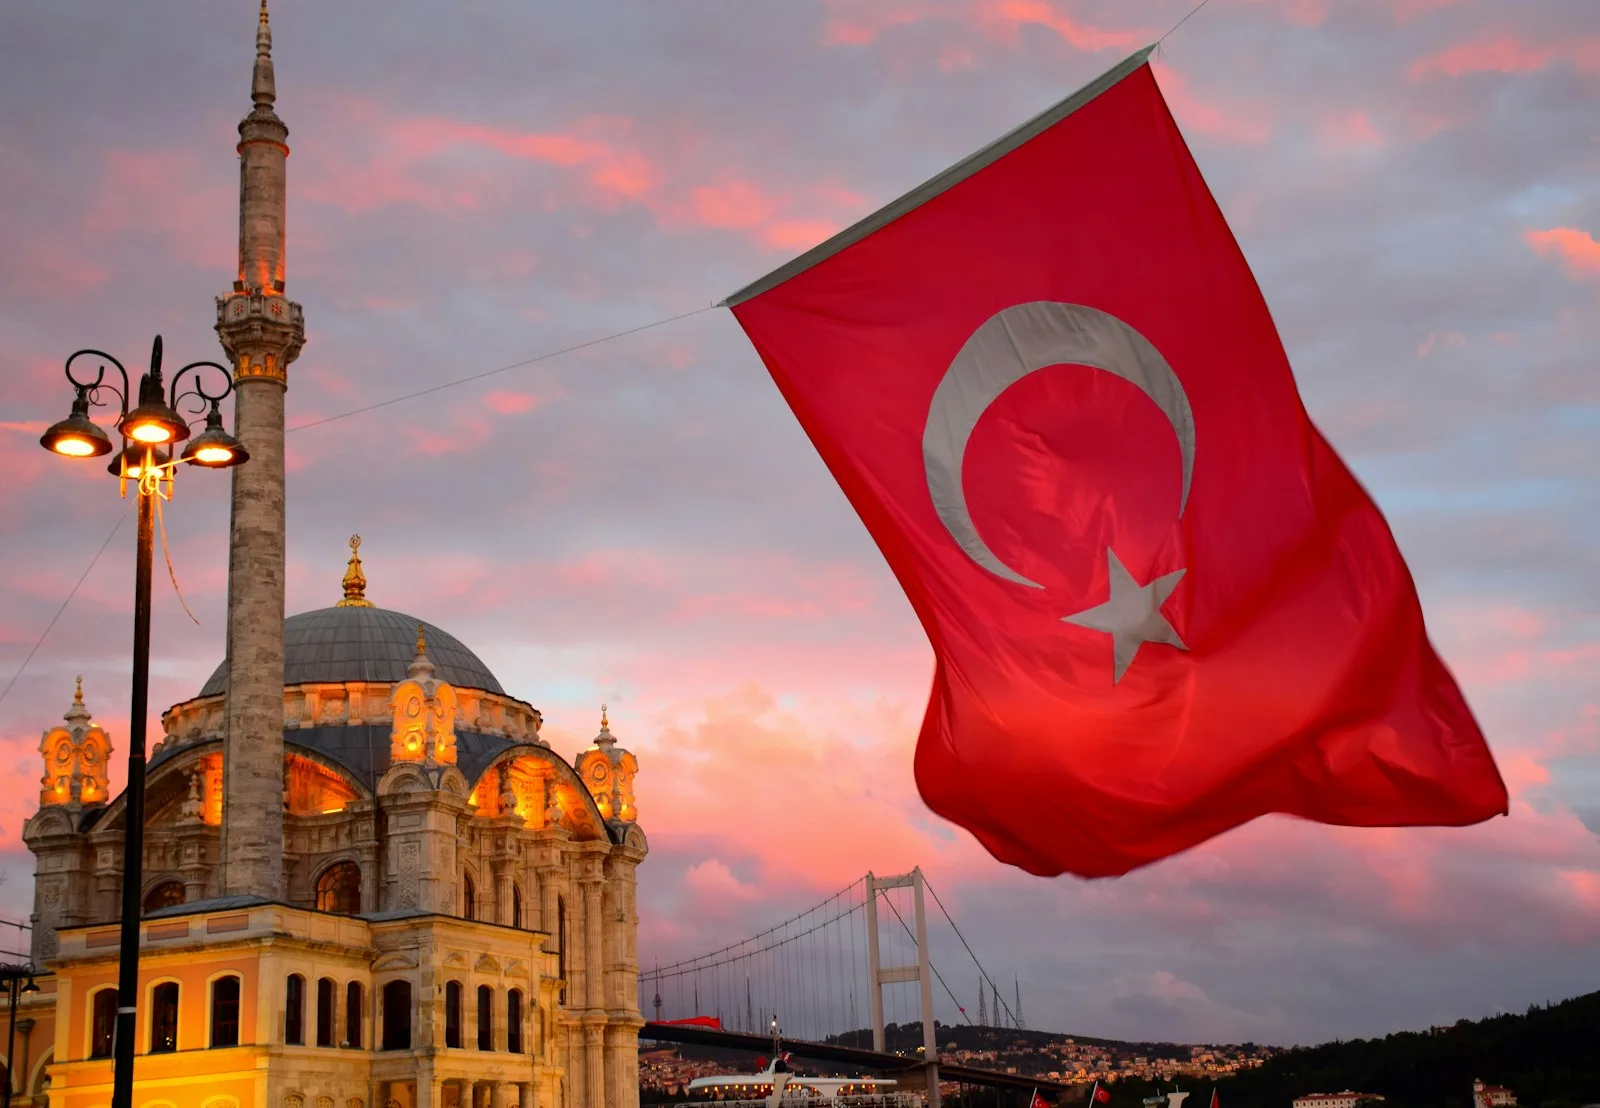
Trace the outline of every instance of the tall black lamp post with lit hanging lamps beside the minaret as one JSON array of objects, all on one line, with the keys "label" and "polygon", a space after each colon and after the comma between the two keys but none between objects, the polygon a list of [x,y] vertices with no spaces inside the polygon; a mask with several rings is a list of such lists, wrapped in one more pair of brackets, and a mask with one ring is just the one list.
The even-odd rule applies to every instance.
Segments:
[{"label": "tall black lamp post with lit hanging lamps beside the minaret", "polygon": [[[80,381],[72,363],[80,357],[101,359],[93,381]],[[106,379],[106,363],[115,365],[122,387]],[[200,370],[216,370],[222,378],[219,392],[210,392]],[[117,1033],[112,1046],[112,1108],[133,1108],[133,1039],[139,998],[139,889],[144,884],[144,721],[149,713],[150,685],[150,562],[155,541],[155,498],[171,500],[173,474],[189,463],[206,469],[227,469],[250,460],[250,453],[222,429],[222,399],[234,391],[234,376],[216,362],[190,362],[173,375],[171,389],[162,386],[162,336],[150,347],[150,371],[139,378],[138,397],[130,395],[128,370],[102,351],[78,351],[67,359],[67,381],[77,389],[72,413],[40,437],[40,445],[67,458],[98,458],[112,452],[110,437],[90,420],[90,407],[110,407],[112,394],[120,403],[117,431],[123,448],[110,464],[122,495],[131,480],[139,498],[139,540],[133,584],[133,708],[128,717],[128,791],[123,812],[122,841],[122,949],[117,965]],[[189,375],[189,387],[184,378]],[[86,378],[86,373],[85,373]],[[138,403],[131,403],[138,400]],[[205,415],[205,428],[189,437],[189,423],[178,413],[189,400],[189,411]],[[131,403],[131,407],[130,407]],[[178,460],[173,452],[189,439]],[[37,988],[37,986],[35,986]],[[14,993],[13,993],[14,998]],[[16,1002],[13,999],[13,1010]],[[6,1103],[10,1108],[10,1089]]]}]

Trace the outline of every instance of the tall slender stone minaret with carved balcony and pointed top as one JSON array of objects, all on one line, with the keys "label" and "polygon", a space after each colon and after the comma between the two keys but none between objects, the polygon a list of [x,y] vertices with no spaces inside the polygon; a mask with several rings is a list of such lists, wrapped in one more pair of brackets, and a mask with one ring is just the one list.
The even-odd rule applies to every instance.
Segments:
[{"label": "tall slender stone minaret with carved balcony and pointed top", "polygon": [[227,733],[222,748],[222,890],[283,897],[283,392],[306,341],[283,295],[290,128],[272,104],[267,0],[256,27],[254,107],[238,125],[238,279],[216,301],[234,363],[234,474],[227,560]]}]

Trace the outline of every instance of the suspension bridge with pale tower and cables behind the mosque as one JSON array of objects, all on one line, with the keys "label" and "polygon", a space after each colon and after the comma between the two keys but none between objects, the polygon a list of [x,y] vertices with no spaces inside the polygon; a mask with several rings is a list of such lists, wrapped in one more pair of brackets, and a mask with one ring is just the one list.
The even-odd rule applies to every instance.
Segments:
[{"label": "suspension bridge with pale tower and cables behind the mosque", "polygon": [[[930,901],[954,938],[957,961],[930,949]],[[949,941],[946,941],[949,946]],[[1011,994],[973,951],[938,890],[922,873],[866,874],[827,900],[696,957],[640,972],[640,1038],[698,1047],[781,1050],[813,1063],[899,1074],[926,1089],[928,1105],[965,1100],[968,1089],[1051,1100],[1070,1086],[941,1058],[936,998],[957,1023],[1022,1028],[1022,993]],[[946,1046],[950,1046],[947,1038]]]}]

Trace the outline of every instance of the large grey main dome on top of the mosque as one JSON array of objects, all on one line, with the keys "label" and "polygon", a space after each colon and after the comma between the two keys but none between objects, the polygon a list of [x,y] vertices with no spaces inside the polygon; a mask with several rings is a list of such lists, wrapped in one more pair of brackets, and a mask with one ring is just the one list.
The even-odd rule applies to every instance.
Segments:
[{"label": "large grey main dome on top of the mosque", "polygon": [[[416,624],[427,636],[427,658],[440,680],[504,695],[475,653],[448,631],[387,608],[318,608],[283,621],[283,684],[403,680],[416,658]],[[216,668],[202,697],[227,692],[227,661]]]}]

